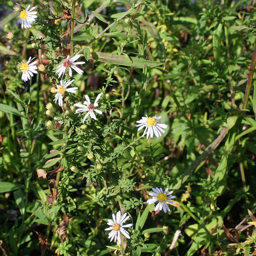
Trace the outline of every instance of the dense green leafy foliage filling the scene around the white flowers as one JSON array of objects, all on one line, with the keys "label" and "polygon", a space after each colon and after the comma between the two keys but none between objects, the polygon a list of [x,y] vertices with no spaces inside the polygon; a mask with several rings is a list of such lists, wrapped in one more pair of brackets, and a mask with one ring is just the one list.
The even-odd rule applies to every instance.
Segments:
[{"label": "dense green leafy foliage filling the scene around the white flowers", "polygon": [[[4,1],[0,21],[3,253],[120,254],[104,229],[112,211],[121,207],[134,223],[131,240],[123,243],[126,255],[252,254],[254,226],[246,227],[247,209],[255,210],[256,185],[256,90],[254,79],[248,77],[255,46],[252,2],[77,1],[75,17],[80,22],[96,10],[91,24],[75,21],[73,46],[85,55],[80,58],[86,61],[84,73],[74,75],[73,84],[79,89],[66,97],[69,104],[61,109],[53,103],[55,109],[47,116],[45,105],[53,102],[50,88],[58,79],[53,68],[61,61],[57,56],[70,53],[70,37],[61,36],[67,22],[61,26],[47,22],[63,14],[61,4],[21,3],[41,6],[37,22],[21,30],[13,2]],[[70,1],[70,12],[71,5]],[[125,16],[117,22],[122,12],[127,12],[130,22]],[[6,39],[7,31],[15,38]],[[16,68],[30,56],[47,69],[47,75],[34,76],[31,84],[21,81]],[[128,56],[139,60],[131,62]],[[85,94],[94,100],[99,92],[104,114],[96,122],[87,120],[83,131],[83,115],[74,114],[73,104]],[[135,122],[146,115],[162,116],[161,122],[168,125],[162,137],[139,137]],[[53,125],[60,121],[61,127],[47,127],[48,120]],[[87,158],[89,153],[93,160]],[[53,182],[38,179],[36,170],[51,171],[59,164],[63,171],[50,177],[59,182],[55,183],[58,196],[49,203],[46,196]],[[78,170],[72,172],[72,166]],[[174,190],[177,204],[170,206],[171,212],[156,213],[145,204],[152,187]],[[64,215],[69,224],[63,240],[56,230],[65,222]],[[163,226],[169,231],[163,232]],[[229,233],[225,227],[238,231]],[[51,250],[40,251],[34,231],[46,236]],[[176,248],[171,249],[179,232]]]}]

